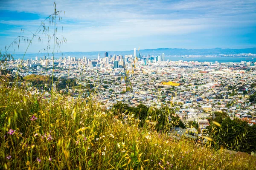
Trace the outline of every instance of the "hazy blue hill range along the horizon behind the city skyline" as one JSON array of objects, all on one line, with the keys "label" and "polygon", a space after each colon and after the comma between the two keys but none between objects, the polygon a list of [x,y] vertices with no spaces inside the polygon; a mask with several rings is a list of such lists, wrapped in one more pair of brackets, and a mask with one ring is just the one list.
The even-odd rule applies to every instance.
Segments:
[{"label": "hazy blue hill range along the horizon behind the city skyline", "polygon": [[[100,56],[104,57],[105,51],[99,51]],[[128,55],[128,54],[133,54],[134,51],[108,51],[109,55],[114,55],[114,54],[122,54],[122,55]],[[141,55],[160,55],[164,53],[166,56],[182,56],[182,55],[219,55],[219,54],[225,54],[225,55],[232,55],[232,54],[241,54],[241,53],[252,53],[256,54],[256,48],[244,48],[244,49],[222,49],[222,48],[210,48],[210,49],[183,49],[183,48],[157,48],[157,49],[143,49],[140,51],[137,51],[137,55],[140,53]],[[35,56],[43,57],[44,53],[39,53],[39,54],[26,54],[24,59],[35,59]],[[49,54],[50,58],[52,54]],[[56,53],[55,57],[61,57],[61,56],[71,56],[71,57],[77,57],[81,58],[83,56],[86,56],[88,58],[92,57],[97,57],[98,56],[98,51],[91,51],[91,52],[63,52],[63,53]],[[15,59],[22,58],[22,54],[13,54],[13,57]]]}]

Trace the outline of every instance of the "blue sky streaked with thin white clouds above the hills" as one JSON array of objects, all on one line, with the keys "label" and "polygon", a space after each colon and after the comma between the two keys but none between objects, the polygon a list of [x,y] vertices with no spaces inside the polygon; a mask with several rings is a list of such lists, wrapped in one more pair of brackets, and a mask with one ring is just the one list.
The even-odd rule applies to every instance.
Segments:
[{"label": "blue sky streaked with thin white clouds above the hills", "polygon": [[[53,2],[1,1],[0,49],[17,36],[32,37],[29,31],[34,33],[52,14]],[[58,36],[67,38],[61,51],[256,47],[256,0],[56,0],[56,4],[57,10],[65,11],[58,23]],[[47,39],[35,40],[28,52],[46,45]],[[20,44],[15,51],[25,48]]]}]

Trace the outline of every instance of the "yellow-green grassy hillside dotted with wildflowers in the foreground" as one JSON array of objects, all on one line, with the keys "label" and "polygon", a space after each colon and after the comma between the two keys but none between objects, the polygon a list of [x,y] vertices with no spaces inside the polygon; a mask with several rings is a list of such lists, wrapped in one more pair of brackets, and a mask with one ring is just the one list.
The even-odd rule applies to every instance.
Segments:
[{"label": "yellow-green grassy hillside dotted with wildflowers in the foreground", "polygon": [[0,169],[256,169],[254,156],[177,141],[97,101],[24,89],[0,80]]}]

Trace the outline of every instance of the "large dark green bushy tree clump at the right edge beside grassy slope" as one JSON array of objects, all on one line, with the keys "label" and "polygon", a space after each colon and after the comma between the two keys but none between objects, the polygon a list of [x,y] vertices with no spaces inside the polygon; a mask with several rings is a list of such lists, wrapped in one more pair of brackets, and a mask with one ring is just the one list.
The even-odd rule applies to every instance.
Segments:
[{"label": "large dark green bushy tree clump at the right edge beside grassy slope", "polygon": [[220,124],[211,121],[211,125],[207,127],[213,147],[247,153],[256,152],[256,125],[250,126],[246,121],[237,118],[232,120],[228,116],[223,118],[221,114],[216,115],[214,120],[219,121]]}]

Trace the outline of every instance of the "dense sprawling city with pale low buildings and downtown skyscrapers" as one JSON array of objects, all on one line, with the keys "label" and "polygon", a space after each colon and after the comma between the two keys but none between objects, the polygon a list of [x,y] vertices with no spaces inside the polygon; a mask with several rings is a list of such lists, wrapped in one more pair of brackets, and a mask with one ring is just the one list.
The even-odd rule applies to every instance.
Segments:
[{"label": "dense sprawling city with pale low buildings and downtown skyscrapers", "polygon": [[91,96],[107,109],[118,102],[132,107],[167,105],[182,122],[197,122],[201,130],[209,126],[214,112],[256,124],[256,67],[252,62],[165,61],[164,54],[136,57],[134,49],[134,55],[108,56],[106,52],[97,59],[10,60],[2,68],[18,73],[35,93],[50,95],[53,87],[73,98]]}]

